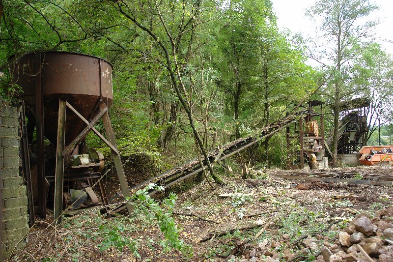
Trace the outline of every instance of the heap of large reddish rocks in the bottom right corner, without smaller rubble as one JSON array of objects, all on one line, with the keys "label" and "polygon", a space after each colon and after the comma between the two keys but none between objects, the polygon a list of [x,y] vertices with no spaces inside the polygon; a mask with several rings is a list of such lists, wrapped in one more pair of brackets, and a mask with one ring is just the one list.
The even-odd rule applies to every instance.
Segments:
[{"label": "heap of large reddish rocks in the bottom right corner, without smaller rubble", "polygon": [[338,233],[334,244],[324,243],[321,253],[327,262],[393,261],[393,206],[370,219],[359,214]]}]

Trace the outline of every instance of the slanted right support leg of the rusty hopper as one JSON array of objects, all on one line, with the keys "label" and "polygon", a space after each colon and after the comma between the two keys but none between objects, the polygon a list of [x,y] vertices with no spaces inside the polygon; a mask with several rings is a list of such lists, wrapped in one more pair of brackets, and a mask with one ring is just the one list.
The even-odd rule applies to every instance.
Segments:
[{"label": "slanted right support leg of the rusty hopper", "polygon": [[[104,110],[106,107],[107,106],[105,105],[105,103],[100,104],[100,110]],[[107,134],[109,142],[117,149],[108,111],[105,111],[104,115],[102,116],[102,121],[104,123],[105,133]],[[112,157],[113,157],[114,166],[116,168],[117,176],[119,177],[121,191],[123,192],[123,195],[125,197],[131,198],[130,189],[128,187],[127,179],[124,175],[123,164],[121,163],[120,154],[118,153],[118,151],[116,152],[112,149]],[[127,203],[127,209],[130,214],[134,211],[134,207],[131,203]]]}]

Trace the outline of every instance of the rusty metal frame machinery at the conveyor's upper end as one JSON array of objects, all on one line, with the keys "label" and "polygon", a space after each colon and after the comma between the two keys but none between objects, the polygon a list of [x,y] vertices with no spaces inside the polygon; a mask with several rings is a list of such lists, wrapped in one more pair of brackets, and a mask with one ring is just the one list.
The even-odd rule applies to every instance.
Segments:
[{"label": "rusty metal frame machinery at the conveyor's upper end", "polygon": [[[323,132],[322,105],[324,102],[308,102],[308,110],[296,124],[286,127],[287,169],[304,169],[305,157],[309,162],[327,165]],[[321,113],[316,113],[321,106]],[[292,131],[292,132],[291,132]],[[316,159],[312,159],[315,156]]]}]

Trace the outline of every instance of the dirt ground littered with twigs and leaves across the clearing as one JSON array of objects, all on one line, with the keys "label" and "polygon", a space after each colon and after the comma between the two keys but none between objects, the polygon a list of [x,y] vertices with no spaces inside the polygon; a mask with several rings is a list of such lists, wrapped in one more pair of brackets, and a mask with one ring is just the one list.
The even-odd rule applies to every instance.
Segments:
[{"label": "dirt ground littered with twigs and leaves across the clearing", "polygon": [[[393,174],[393,168],[386,166],[354,167],[338,171]],[[50,246],[48,243],[53,242],[49,233],[41,233],[48,228],[48,220],[38,222],[31,230],[28,247],[14,260],[27,258],[26,254],[34,253],[31,250],[39,249],[42,251],[35,252],[35,258],[46,258],[46,261],[56,261],[55,258],[61,252],[61,260],[64,261],[227,261],[232,254],[232,261],[241,261],[242,253],[235,249],[239,248],[239,242],[253,246],[267,239],[268,242],[278,243],[275,252],[280,261],[285,261],[282,253],[284,249],[290,247],[296,252],[304,248],[296,243],[299,236],[313,233],[317,244],[332,242],[340,227],[346,226],[357,214],[365,212],[374,215],[383,207],[392,205],[393,187],[285,180],[277,175],[281,172],[278,169],[261,170],[249,179],[229,174],[223,177],[226,182],[224,186],[213,185],[214,188],[206,181],[191,188],[187,188],[188,184],[181,183],[176,189],[178,198],[173,217],[180,228],[180,238],[192,245],[191,258],[178,251],[164,251],[159,244],[163,238],[159,227],[151,226],[146,221],[131,221],[118,216],[102,218],[100,223],[109,225],[108,220],[120,220],[122,225],[127,224],[118,229],[123,236],[138,238],[141,243],[149,242],[150,244],[140,245],[140,259],[135,260],[127,247],[121,251],[115,246],[99,251],[99,243],[94,241],[94,237],[89,238],[84,234],[73,236],[75,231],[66,229],[58,232],[59,238],[75,240],[61,240],[63,243],[58,243],[57,240],[57,244],[46,248],[45,245]],[[220,196],[222,194],[227,195]],[[96,213],[91,212],[88,216],[98,216]],[[79,231],[94,228],[87,226],[86,229],[85,221],[86,218],[80,218]],[[128,229],[131,230],[127,232]],[[75,245],[73,241],[78,241],[79,244]],[[306,261],[312,261],[313,252],[308,252],[306,257]]]}]

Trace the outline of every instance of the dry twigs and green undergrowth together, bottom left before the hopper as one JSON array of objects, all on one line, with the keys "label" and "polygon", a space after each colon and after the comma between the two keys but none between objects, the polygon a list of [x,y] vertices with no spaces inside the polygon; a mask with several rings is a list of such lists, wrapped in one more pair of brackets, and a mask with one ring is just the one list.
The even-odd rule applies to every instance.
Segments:
[{"label": "dry twigs and green undergrowth together, bottom left before the hopper", "polygon": [[[142,247],[152,251],[160,249],[163,252],[175,249],[185,258],[192,257],[192,247],[180,239],[179,228],[172,217],[176,195],[171,193],[166,199],[159,201],[148,195],[150,189],[163,190],[162,187],[149,184],[122,203],[133,204],[134,212],[131,215],[105,218],[97,208],[64,218],[60,227],[48,225],[42,230],[30,230],[31,240],[28,245],[14,254],[11,260],[91,261],[96,260],[97,255],[101,259],[106,250],[111,250],[111,254],[114,252],[118,256],[140,258]],[[138,235],[141,230],[152,230],[154,226],[162,233],[158,243],[148,235]]]}]

